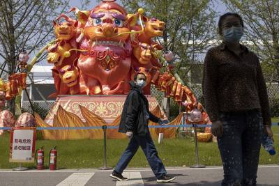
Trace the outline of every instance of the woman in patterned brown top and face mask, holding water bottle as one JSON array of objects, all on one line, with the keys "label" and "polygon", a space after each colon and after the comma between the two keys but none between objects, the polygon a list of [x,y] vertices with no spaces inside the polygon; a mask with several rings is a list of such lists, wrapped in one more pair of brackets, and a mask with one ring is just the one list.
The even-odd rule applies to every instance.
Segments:
[{"label": "woman in patterned brown top and face mask, holding water bottle", "polygon": [[241,16],[222,15],[218,32],[223,42],[204,59],[203,93],[223,161],[222,185],[256,185],[262,132],[272,137],[266,84],[257,55],[239,43]]}]

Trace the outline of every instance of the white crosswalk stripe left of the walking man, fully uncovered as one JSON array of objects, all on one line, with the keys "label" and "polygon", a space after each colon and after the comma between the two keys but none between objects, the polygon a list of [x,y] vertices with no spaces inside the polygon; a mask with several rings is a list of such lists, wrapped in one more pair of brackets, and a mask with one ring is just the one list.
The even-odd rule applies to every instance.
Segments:
[{"label": "white crosswalk stripe left of the walking man, fully uncovered", "polygon": [[95,173],[73,173],[56,186],[82,186],[85,185]]}]

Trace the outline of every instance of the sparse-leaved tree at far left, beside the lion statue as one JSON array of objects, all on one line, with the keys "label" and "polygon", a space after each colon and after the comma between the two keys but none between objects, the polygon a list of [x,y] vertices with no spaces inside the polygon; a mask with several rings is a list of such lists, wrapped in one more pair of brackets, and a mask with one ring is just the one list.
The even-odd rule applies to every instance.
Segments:
[{"label": "sparse-leaved tree at far left, beside the lion statue", "polygon": [[[52,20],[65,8],[68,10],[68,1],[62,0],[0,1],[0,56],[9,75],[16,71],[17,56],[23,49],[30,54],[53,40]],[[14,99],[10,111],[15,114]]]}]

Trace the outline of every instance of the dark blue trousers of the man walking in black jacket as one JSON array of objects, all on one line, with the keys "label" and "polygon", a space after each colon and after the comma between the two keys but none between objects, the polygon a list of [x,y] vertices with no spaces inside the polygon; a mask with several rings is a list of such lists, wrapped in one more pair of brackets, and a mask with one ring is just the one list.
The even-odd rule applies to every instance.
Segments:
[{"label": "dark blue trousers of the man walking in black jacket", "polygon": [[130,139],[128,147],[123,152],[114,170],[118,173],[123,173],[123,170],[126,169],[139,147],[144,151],[146,159],[156,178],[160,178],[167,174],[163,162],[158,157],[156,147],[149,132],[147,132],[146,135],[134,135],[132,139]]}]

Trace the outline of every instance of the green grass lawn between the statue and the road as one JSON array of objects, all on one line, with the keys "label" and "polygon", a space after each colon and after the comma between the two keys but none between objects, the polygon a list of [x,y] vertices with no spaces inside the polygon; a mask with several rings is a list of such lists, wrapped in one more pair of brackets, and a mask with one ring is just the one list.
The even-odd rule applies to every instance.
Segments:
[{"label": "green grass lawn between the statue and the road", "polygon": [[[279,164],[279,127],[273,126],[274,139],[276,140],[277,154],[270,156],[262,148],[259,164]],[[0,169],[11,169],[18,163],[8,162],[10,134],[0,137]],[[190,166],[195,164],[195,143],[192,139],[165,139],[163,144],[154,140],[159,156],[165,166]],[[107,166],[115,166],[123,150],[128,144],[127,139],[107,140]],[[53,146],[58,150],[59,169],[98,168],[103,166],[103,140],[67,140],[67,141],[36,141],[36,148],[45,146],[45,165],[48,165],[48,153]],[[216,143],[199,143],[200,164],[206,166],[221,165],[220,155]],[[35,163],[23,164],[35,168]],[[142,150],[129,164],[130,167],[149,166]]]}]

